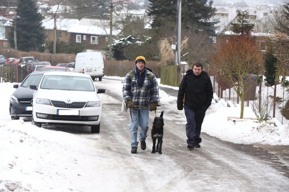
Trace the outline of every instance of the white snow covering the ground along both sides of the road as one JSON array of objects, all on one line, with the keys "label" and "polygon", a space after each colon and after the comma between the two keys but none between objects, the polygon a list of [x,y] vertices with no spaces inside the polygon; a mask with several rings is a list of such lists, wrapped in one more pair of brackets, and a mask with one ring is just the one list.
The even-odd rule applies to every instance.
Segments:
[{"label": "white snow covering the ground along both sides of the road", "polygon": [[[123,77],[109,78],[124,79]],[[117,163],[113,154],[106,153],[105,147],[95,147],[91,143],[84,142],[79,135],[38,128],[23,118],[11,120],[9,98],[15,90],[13,84],[0,83],[2,100],[0,105],[0,191],[74,191],[74,188],[79,185],[89,186],[86,188],[87,191],[94,191],[95,188],[98,191],[110,191],[107,188],[108,181],[105,181],[106,186],[101,186],[99,183],[104,182],[102,178],[120,174],[111,167],[112,163]],[[177,87],[167,87],[178,90]],[[121,96],[121,88],[119,84],[110,85],[110,89],[119,96]],[[102,102],[105,103],[106,97],[103,94],[100,95]],[[160,97],[162,105],[176,101],[176,97],[162,90],[160,90]],[[170,106],[176,108],[176,105],[170,104]],[[273,127],[252,121],[236,122],[236,125],[233,125],[232,121],[227,120],[227,116],[238,117],[240,106],[227,107],[227,103],[220,100],[218,103],[212,101],[210,108],[214,112],[207,112],[202,132],[233,143],[289,145],[288,125],[281,125],[277,122],[277,126]],[[185,123],[184,111],[178,112],[183,115]],[[251,108],[245,107],[244,117],[254,117]],[[87,135],[84,134],[83,137],[87,140]],[[94,140],[99,138],[97,134],[91,137]],[[87,154],[88,151],[89,154]],[[70,169],[70,167],[75,167],[73,166],[75,164],[78,165],[77,169]],[[94,170],[95,167],[98,169]],[[81,180],[82,183],[78,183],[75,175],[81,177],[88,169],[94,173],[90,177],[97,180],[97,186],[89,182],[91,180]],[[125,168],[123,171],[125,172]],[[124,172],[121,173],[124,174]],[[51,177],[53,174],[57,177]],[[67,181],[69,183],[64,183]],[[109,185],[113,188],[120,182],[112,180]]]}]

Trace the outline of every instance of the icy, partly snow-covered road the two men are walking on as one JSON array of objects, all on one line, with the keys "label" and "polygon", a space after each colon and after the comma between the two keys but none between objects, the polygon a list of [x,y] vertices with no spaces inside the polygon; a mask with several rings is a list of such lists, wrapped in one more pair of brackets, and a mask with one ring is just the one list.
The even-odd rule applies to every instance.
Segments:
[{"label": "icy, partly snow-covered road the two men are walking on", "polygon": [[[139,191],[288,190],[288,169],[274,163],[274,156],[268,156],[260,148],[224,142],[202,133],[202,147],[188,150],[183,111],[177,111],[173,102],[162,105],[157,111],[157,115],[165,111],[163,154],[150,153],[150,130],[147,149],[139,148],[137,154],[130,154],[128,113],[120,112],[121,92],[111,90],[111,81],[96,82],[96,86],[107,89],[107,94],[101,95],[106,97],[106,102],[103,103],[100,136],[105,140],[108,153],[115,154],[116,166],[113,166],[119,171],[115,179],[127,183],[125,188],[118,186],[122,190],[129,191],[134,186],[139,186]],[[121,86],[120,81],[114,83]],[[153,117],[151,112],[150,124]]]}]

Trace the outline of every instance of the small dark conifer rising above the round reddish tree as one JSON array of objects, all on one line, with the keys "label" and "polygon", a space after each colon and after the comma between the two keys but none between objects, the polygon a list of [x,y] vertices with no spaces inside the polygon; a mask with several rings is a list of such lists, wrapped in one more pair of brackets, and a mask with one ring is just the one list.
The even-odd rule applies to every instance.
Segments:
[{"label": "small dark conifer rising above the round reddish tree", "polygon": [[254,24],[249,24],[249,11],[240,11],[237,10],[237,23],[231,23],[230,29],[236,33],[237,35],[241,36],[248,36],[254,29]]}]

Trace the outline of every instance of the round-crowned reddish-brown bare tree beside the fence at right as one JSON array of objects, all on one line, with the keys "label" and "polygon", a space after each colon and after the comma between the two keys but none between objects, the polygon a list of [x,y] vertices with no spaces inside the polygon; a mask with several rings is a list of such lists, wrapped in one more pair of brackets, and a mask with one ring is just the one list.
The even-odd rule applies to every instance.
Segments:
[{"label": "round-crowned reddish-brown bare tree beside the fence at right", "polygon": [[241,99],[241,114],[244,113],[244,98],[246,91],[253,84],[246,84],[244,79],[251,74],[264,73],[262,53],[255,47],[254,38],[248,36],[233,36],[226,44],[220,45],[214,55],[211,67],[216,75],[233,86]]}]

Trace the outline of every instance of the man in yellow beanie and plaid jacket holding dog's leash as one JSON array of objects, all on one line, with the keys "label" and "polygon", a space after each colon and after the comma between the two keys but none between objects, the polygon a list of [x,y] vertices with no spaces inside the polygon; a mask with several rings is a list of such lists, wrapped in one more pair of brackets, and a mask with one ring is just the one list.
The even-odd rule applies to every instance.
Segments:
[{"label": "man in yellow beanie and plaid jacket holding dog's leash", "polygon": [[[139,131],[140,147],[146,149],[145,139],[149,129],[149,111],[157,110],[159,87],[155,75],[145,68],[145,57],[135,59],[136,67],[126,74],[122,94],[129,110],[129,130],[131,133],[131,153],[137,153],[137,130]],[[131,112],[130,112],[131,111]]]}]

